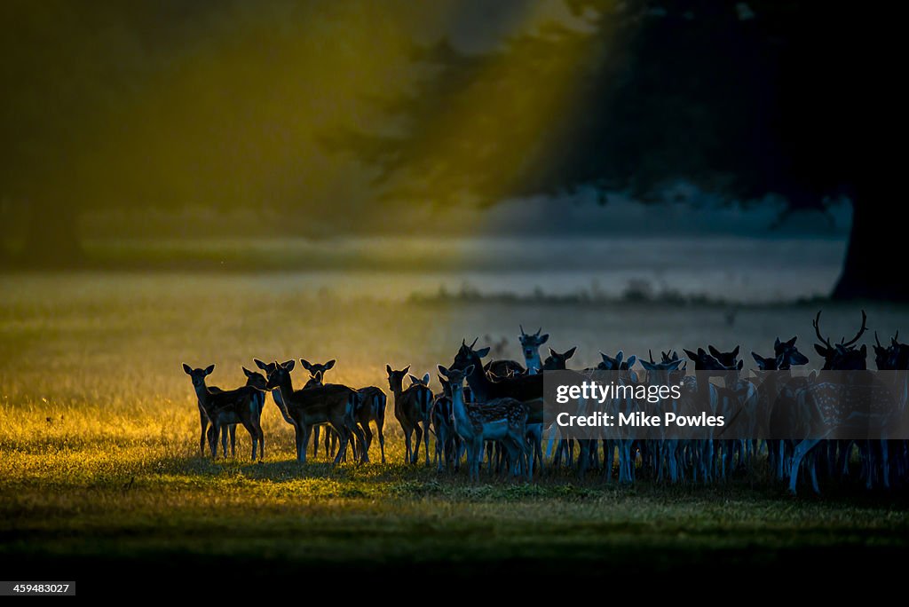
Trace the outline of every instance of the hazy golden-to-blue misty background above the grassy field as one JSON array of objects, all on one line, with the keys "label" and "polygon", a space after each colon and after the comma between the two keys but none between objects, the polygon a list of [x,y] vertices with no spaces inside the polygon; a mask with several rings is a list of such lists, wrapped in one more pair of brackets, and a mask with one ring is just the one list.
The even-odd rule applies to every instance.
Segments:
[{"label": "hazy golden-to-blue misty background above the grassy field", "polygon": [[[608,63],[590,53],[608,45],[591,41],[612,44],[606,55],[637,57],[626,61],[634,67],[651,52],[647,28],[668,26],[653,24],[741,25],[763,40],[755,27],[777,35],[777,22],[791,17],[762,2],[721,5],[5,3],[0,261],[294,272],[316,289],[374,294],[400,283],[376,273],[410,274],[408,291],[419,294],[742,303],[829,294],[856,208],[836,188],[799,198],[818,180],[795,195],[783,187],[788,176],[767,169],[754,180],[767,191],[744,192],[711,187],[685,167],[690,179],[684,171],[646,178],[659,191],[654,200],[639,173],[653,170],[651,158],[662,166],[687,149],[703,152],[684,139],[668,160],[663,148],[644,149],[631,181],[576,187],[583,180],[560,169],[564,188],[549,175],[534,184],[537,164],[555,166],[587,142],[509,130],[514,121],[546,133],[586,107],[578,99],[589,86],[574,81],[593,82],[595,66]],[[552,78],[536,79],[537,65]],[[709,78],[712,67],[688,69]],[[772,78],[759,85],[782,88]],[[706,116],[694,126],[712,120],[709,106],[680,102],[667,86],[647,94],[667,100],[667,115],[690,107]],[[427,118],[419,104],[435,95],[452,104]],[[398,158],[435,164],[395,173],[401,161],[389,168],[388,140],[403,150]],[[487,162],[484,145],[503,142],[514,147]]]}]

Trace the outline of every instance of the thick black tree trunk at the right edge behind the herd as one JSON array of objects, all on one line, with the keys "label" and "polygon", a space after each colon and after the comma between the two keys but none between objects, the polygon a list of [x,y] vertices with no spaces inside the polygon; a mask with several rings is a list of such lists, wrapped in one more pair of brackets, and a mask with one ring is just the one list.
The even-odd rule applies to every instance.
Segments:
[{"label": "thick black tree trunk at the right edge behind the herd", "polygon": [[884,204],[893,196],[882,188],[856,188],[849,248],[834,299],[909,301],[903,272],[907,231]]}]

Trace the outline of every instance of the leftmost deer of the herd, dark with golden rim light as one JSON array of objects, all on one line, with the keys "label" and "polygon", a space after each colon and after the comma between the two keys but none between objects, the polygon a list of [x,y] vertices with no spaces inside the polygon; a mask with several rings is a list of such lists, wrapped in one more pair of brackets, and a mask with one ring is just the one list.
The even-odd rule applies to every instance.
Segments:
[{"label": "leftmost deer of the herd, dark with golden rim light", "polygon": [[255,385],[245,385],[236,390],[209,392],[205,385],[205,377],[215,371],[215,365],[210,364],[205,369],[192,368],[183,363],[184,372],[193,382],[195,395],[205,410],[205,415],[215,429],[209,433],[209,446],[212,457],[217,454],[216,440],[224,426],[231,423],[242,423],[253,442],[253,461],[255,462],[256,447],[258,447],[259,460],[265,457],[265,435],[259,418],[262,414],[261,403],[264,401],[258,396],[262,391]]}]

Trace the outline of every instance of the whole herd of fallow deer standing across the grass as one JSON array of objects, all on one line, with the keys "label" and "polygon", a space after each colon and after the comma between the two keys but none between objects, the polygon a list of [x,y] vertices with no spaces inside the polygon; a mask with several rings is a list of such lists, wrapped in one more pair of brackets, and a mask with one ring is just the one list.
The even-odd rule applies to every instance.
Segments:
[{"label": "whole herd of fallow deer standing across the grass", "polygon": [[[867,348],[857,345],[867,331],[866,315],[854,337],[839,343],[825,338],[820,327],[821,313],[814,318],[814,331],[820,343],[814,349],[824,359],[824,371],[853,371],[867,369]],[[433,393],[431,377],[410,373],[410,366],[395,370],[385,365],[388,387],[394,398],[395,419],[401,425],[405,440],[405,463],[420,462],[420,444],[424,445],[425,465],[435,463],[439,473],[458,472],[466,463],[470,479],[479,479],[482,468],[490,474],[511,474],[530,479],[544,473],[544,459],[549,472],[561,467],[576,467],[578,473],[600,470],[608,482],[616,478],[620,483],[633,483],[637,478],[651,478],[658,482],[678,483],[691,481],[711,483],[724,481],[738,471],[752,471],[764,459],[766,470],[775,479],[787,481],[795,493],[800,480],[809,480],[819,493],[818,476],[834,480],[858,477],[866,487],[889,487],[894,482],[903,483],[909,478],[909,442],[897,439],[847,441],[835,438],[808,440],[566,440],[559,438],[544,420],[543,373],[568,369],[576,348],[562,353],[548,348],[542,358],[540,348],[549,335],[524,333],[519,337],[524,363],[514,360],[493,360],[483,363],[489,347],[476,348],[474,343],[462,341],[454,361],[437,365],[437,377],[442,390]],[[879,370],[909,370],[909,344],[899,343],[897,335],[889,345],[878,341],[874,333],[874,357]],[[764,411],[771,410],[770,419],[780,419],[787,410],[796,407],[814,407],[816,415],[825,416],[834,423],[838,420],[836,403],[841,403],[843,387],[825,382],[812,373],[809,376],[790,374],[795,366],[806,365],[808,358],[795,345],[796,338],[774,343],[773,355],[752,353],[755,370],[775,371],[763,383],[761,390],[746,379],[739,378],[744,361],[739,358],[739,347],[720,352],[714,346],[684,350],[686,358],[694,363],[694,371],[719,371],[734,374],[733,384],[728,380],[725,388],[713,383],[698,381],[685,376],[686,361],[675,352],[662,353],[659,362],[653,355],[644,361],[634,355],[615,356],[600,353],[601,362],[596,370],[620,373],[623,381],[637,382],[634,366],[643,367],[648,376],[674,373],[680,378],[687,393],[706,394],[707,391],[724,390],[735,398],[755,399]],[[376,386],[355,389],[338,383],[327,383],[325,375],[335,361],[309,363],[300,360],[308,373],[305,384],[296,387],[291,373],[296,361],[265,363],[255,359],[263,372],[244,367],[244,386],[235,390],[221,390],[206,384],[206,377],[215,365],[192,368],[183,365],[192,380],[199,409],[201,433],[199,450],[205,455],[205,443],[213,457],[217,443],[221,442],[227,456],[229,440],[235,455],[235,427],[242,424],[252,439],[252,457],[261,460],[265,455],[265,436],[260,423],[265,408],[266,393],[271,393],[278,411],[294,428],[297,461],[305,463],[307,445],[313,438],[313,455],[318,453],[319,433],[325,433],[325,455],[334,455],[335,463],[346,459],[348,450],[360,463],[369,462],[375,425],[382,463],[385,463],[385,392]],[[586,370],[590,371],[590,369]],[[900,373],[905,377],[907,373]],[[405,385],[409,381],[409,384]],[[905,411],[909,400],[909,385],[899,387],[897,407]],[[839,392],[837,392],[839,391]],[[707,401],[721,403],[713,393]],[[833,404],[832,404],[833,403]],[[629,403],[630,404],[630,403]],[[772,408],[772,409],[771,409]],[[547,439],[544,444],[544,434]],[[431,440],[432,439],[432,440]],[[430,443],[435,449],[430,451]],[[545,449],[544,449],[545,446]],[[349,449],[348,449],[349,448]],[[546,458],[544,458],[544,452]],[[431,462],[432,460],[432,462]]]}]

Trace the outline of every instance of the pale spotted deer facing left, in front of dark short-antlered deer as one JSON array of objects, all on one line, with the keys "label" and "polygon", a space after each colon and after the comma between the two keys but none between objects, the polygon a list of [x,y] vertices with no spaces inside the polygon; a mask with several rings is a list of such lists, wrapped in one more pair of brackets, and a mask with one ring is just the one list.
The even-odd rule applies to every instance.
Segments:
[{"label": "pale spotted deer facing left, in front of dark short-antlered deer", "polygon": [[480,479],[480,460],[483,457],[485,441],[498,441],[503,444],[512,463],[514,475],[524,469],[527,478],[531,478],[534,472],[533,462],[530,461],[524,466],[524,461],[528,459],[527,405],[514,398],[504,397],[487,401],[483,406],[468,407],[464,402],[464,377],[475,372],[474,365],[469,364],[461,371],[449,370],[440,364],[438,371],[448,379],[451,388],[454,432],[461,437],[467,447],[470,479],[476,481]]}]

